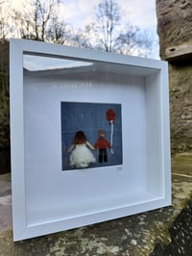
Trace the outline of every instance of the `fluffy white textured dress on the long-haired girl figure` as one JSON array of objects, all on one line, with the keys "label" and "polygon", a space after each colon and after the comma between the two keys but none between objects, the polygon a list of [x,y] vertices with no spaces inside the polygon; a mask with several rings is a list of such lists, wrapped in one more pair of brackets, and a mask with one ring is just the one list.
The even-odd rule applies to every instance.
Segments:
[{"label": "fluffy white textured dress on the long-haired girl figure", "polygon": [[[88,167],[91,163],[95,163],[96,159],[90,149],[88,147],[92,148],[90,146],[90,143],[86,141],[84,144],[76,144],[73,145],[72,148],[73,151],[70,154],[69,157],[69,165],[70,166],[76,166],[78,168],[85,168]],[[94,149],[94,148],[92,148]],[[72,149],[71,149],[72,150]],[[70,150],[70,151],[71,151]]]}]

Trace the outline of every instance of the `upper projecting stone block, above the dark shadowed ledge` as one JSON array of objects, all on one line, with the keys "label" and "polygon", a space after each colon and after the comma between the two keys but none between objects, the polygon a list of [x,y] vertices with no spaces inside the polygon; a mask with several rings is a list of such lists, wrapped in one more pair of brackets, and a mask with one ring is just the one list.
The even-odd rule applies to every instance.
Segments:
[{"label": "upper projecting stone block, above the dark shadowed ledge", "polygon": [[192,1],[156,0],[156,16],[161,58],[192,56]]}]

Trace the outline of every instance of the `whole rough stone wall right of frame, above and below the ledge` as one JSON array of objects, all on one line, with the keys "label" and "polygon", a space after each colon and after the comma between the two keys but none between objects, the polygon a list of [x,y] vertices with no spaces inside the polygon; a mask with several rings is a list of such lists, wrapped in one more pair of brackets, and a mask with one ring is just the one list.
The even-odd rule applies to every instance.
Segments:
[{"label": "whole rough stone wall right of frame, above and below the ledge", "polygon": [[192,150],[192,1],[156,0],[160,56],[169,62],[172,153]]}]

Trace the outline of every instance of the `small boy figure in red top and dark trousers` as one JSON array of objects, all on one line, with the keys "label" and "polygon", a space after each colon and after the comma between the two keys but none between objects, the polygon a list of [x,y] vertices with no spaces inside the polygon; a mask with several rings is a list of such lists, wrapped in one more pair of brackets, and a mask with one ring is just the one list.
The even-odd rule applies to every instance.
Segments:
[{"label": "small boy figure in red top and dark trousers", "polygon": [[112,146],[105,138],[106,133],[104,130],[99,130],[99,139],[95,142],[94,147],[99,148],[99,163],[108,162],[108,152],[107,148],[111,148]]}]

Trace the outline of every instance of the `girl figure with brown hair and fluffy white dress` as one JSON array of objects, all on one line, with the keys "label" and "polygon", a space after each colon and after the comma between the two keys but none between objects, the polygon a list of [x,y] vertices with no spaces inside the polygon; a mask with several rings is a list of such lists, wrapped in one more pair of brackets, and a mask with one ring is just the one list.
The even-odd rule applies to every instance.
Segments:
[{"label": "girl figure with brown hair and fluffy white dress", "polygon": [[84,168],[89,166],[91,163],[95,163],[96,159],[89,148],[95,150],[95,148],[86,141],[84,132],[78,131],[68,149],[68,152],[73,150],[69,157],[69,165]]}]

